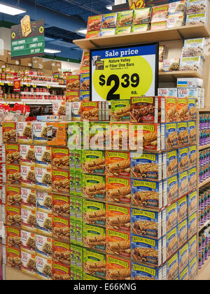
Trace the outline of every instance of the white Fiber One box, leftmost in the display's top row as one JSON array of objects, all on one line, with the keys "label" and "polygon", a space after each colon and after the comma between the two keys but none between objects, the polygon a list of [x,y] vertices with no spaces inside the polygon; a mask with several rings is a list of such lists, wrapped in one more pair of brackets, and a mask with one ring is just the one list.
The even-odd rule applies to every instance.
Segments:
[{"label": "white Fiber One box, leftmost in the display's top row", "polygon": [[17,123],[18,143],[33,144],[33,133],[31,122]]}]

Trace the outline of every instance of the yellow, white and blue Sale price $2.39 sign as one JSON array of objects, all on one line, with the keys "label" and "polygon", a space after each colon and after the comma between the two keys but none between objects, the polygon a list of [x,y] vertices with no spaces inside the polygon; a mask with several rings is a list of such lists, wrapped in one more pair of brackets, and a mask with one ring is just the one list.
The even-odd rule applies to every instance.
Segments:
[{"label": "yellow, white and blue Sale price $2.39 sign", "polygon": [[90,50],[92,101],[158,94],[159,44]]}]

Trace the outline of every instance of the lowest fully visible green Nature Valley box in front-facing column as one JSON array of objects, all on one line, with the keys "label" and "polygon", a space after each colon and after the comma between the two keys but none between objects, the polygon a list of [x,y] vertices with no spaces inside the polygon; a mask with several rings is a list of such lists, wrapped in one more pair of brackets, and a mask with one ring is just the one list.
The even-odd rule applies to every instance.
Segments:
[{"label": "lowest fully visible green Nature Valley box in front-facing column", "polygon": [[106,278],[106,254],[83,248],[83,269],[86,274]]}]

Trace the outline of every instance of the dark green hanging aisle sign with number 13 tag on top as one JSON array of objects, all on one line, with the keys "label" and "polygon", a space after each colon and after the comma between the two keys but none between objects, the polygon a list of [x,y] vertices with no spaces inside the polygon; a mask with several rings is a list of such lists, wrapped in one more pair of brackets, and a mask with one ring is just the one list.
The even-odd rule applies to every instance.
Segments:
[{"label": "dark green hanging aisle sign with number 13 tag on top", "polygon": [[21,25],[11,27],[12,59],[43,56],[45,50],[45,22],[30,22],[29,15],[21,20]]}]

